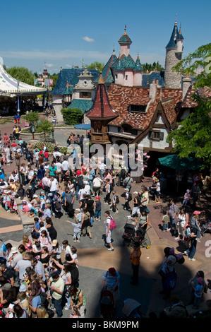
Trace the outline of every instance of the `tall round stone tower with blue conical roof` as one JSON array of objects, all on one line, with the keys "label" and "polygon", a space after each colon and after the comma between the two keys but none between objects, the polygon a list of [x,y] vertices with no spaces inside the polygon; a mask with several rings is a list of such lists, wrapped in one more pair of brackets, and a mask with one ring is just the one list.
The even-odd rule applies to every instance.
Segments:
[{"label": "tall round stone tower with blue conical roof", "polygon": [[181,88],[181,75],[172,71],[172,67],[176,66],[182,59],[183,36],[181,30],[178,32],[177,23],[171,33],[171,38],[166,47],[166,59],[164,68],[164,85],[166,88]]}]

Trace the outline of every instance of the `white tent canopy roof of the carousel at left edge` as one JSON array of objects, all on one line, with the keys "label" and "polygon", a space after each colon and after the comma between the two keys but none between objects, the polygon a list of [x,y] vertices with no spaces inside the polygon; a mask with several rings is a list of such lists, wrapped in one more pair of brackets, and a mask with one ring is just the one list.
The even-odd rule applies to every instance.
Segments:
[{"label": "white tent canopy roof of the carousel at left edge", "polygon": [[[2,58],[1,58],[2,59]],[[3,67],[0,61],[0,95],[21,95],[21,94],[37,94],[45,93],[46,89],[34,85],[18,82],[16,78],[10,76]]]}]

